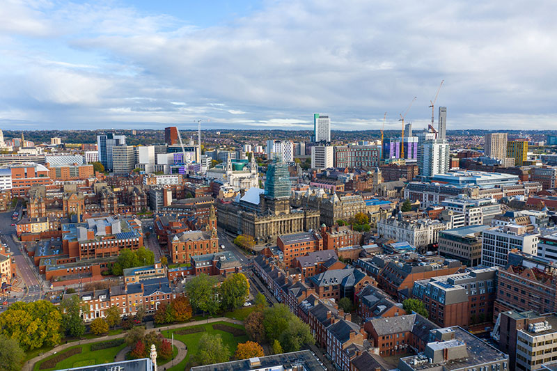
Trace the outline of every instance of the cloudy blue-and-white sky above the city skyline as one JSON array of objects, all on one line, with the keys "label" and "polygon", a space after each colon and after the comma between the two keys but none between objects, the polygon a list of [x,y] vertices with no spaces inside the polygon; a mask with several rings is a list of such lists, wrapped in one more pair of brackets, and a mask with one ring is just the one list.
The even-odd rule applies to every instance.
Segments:
[{"label": "cloudy blue-and-white sky above the city skyline", "polygon": [[557,129],[552,0],[1,3],[1,129]]}]

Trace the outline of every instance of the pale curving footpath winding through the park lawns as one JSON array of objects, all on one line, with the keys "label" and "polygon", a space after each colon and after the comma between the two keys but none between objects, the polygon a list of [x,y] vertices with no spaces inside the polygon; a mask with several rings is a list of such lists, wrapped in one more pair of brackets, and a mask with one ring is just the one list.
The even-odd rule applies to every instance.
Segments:
[{"label": "pale curving footpath winding through the park lawns", "polygon": [[[201,319],[200,321],[187,322],[187,323],[183,323],[183,324],[171,324],[171,325],[168,325],[168,326],[157,327],[157,328],[155,328],[155,331],[158,330],[160,332],[160,331],[173,330],[173,329],[182,329],[182,327],[198,326],[200,324],[210,324],[210,323],[213,323],[213,322],[221,322],[221,321],[230,322],[230,323],[233,323],[233,324],[242,324],[242,321],[237,321],[235,319],[231,319],[231,318],[227,318],[227,317],[217,317],[217,318]],[[37,362],[42,361],[43,359],[47,358],[48,356],[52,356],[52,354],[54,354],[54,353],[60,353],[64,349],[67,349],[69,347],[74,347],[75,345],[89,344],[91,342],[101,342],[101,341],[123,338],[125,335],[126,335],[126,333],[123,332],[123,333],[118,333],[116,335],[100,336],[99,338],[79,340],[77,342],[72,341],[72,342],[68,342],[68,343],[63,344],[63,345],[58,345],[58,347],[50,349],[45,354],[42,354],[40,356],[36,356],[35,358],[32,358],[29,361],[27,361],[25,363],[25,365],[23,366],[22,371],[33,370],[33,368],[35,367],[35,364]],[[178,345],[178,343],[180,343],[180,345]],[[174,339],[174,344],[175,344],[176,347],[178,347],[178,354],[176,355],[176,358],[175,358],[175,364],[178,364],[182,361],[182,359],[184,359],[186,357],[187,349],[186,349],[185,344],[183,342],[179,342],[178,340]],[[182,354],[180,354],[180,350],[183,354],[183,358],[180,358],[180,361],[178,361],[179,357],[182,356]],[[122,352],[123,351],[120,351],[118,353],[118,355],[116,355],[116,357],[120,356],[120,353],[122,353]],[[124,353],[124,356],[125,356],[125,353]],[[166,363],[166,365],[160,365],[159,370],[164,370],[165,367],[166,368],[172,367],[172,361],[170,361],[169,363]]]}]

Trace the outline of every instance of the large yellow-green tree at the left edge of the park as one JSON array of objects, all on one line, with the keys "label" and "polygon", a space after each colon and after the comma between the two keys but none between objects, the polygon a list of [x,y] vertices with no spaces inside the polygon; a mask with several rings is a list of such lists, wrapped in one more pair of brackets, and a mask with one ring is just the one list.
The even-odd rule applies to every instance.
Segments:
[{"label": "large yellow-green tree at the left edge of the park", "polygon": [[17,301],[0,315],[0,333],[24,350],[54,347],[61,340],[61,322],[60,311],[49,301]]}]

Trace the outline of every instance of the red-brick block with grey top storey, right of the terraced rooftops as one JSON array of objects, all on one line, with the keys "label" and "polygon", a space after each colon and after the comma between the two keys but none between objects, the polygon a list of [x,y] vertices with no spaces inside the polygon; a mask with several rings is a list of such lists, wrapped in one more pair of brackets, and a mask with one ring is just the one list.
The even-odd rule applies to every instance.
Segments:
[{"label": "red-brick block with grey top storey, right of the terraced rooftops", "polygon": [[495,267],[466,269],[414,283],[412,297],[425,303],[430,321],[441,327],[491,322],[496,287]]}]

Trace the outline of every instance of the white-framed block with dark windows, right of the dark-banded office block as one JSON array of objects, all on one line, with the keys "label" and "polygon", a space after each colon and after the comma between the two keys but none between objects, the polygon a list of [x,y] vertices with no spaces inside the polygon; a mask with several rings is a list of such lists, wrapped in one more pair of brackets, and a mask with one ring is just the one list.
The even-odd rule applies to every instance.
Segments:
[{"label": "white-framed block with dark windows, right of the dark-banded office block", "polygon": [[536,255],[539,237],[539,233],[527,232],[526,227],[515,224],[483,230],[482,264],[505,267],[507,255],[512,249]]}]

